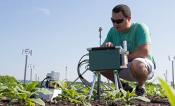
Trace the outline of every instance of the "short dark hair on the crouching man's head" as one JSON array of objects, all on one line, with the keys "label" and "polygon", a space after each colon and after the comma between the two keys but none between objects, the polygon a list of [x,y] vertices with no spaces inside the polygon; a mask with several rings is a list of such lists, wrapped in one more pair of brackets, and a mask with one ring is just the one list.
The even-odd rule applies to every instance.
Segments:
[{"label": "short dark hair on the crouching man's head", "polygon": [[127,5],[119,4],[112,9],[112,12],[114,13],[118,13],[120,11],[123,13],[125,17],[131,17],[131,10]]}]

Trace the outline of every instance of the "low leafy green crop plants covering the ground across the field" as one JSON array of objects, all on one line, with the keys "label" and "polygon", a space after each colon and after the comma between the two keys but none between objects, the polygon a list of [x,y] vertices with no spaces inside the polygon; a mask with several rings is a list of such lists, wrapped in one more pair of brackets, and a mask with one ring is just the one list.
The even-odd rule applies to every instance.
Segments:
[{"label": "low leafy green crop plants covering the ground across the field", "polygon": [[[137,97],[133,92],[124,90],[109,90],[102,87],[100,100],[97,100],[94,90],[91,99],[88,99],[90,88],[82,83],[53,82],[53,88],[62,91],[54,98],[44,99],[41,94],[47,95],[50,91],[41,87],[40,82],[21,84],[14,77],[0,76],[0,106],[173,106],[175,95],[173,89],[166,82],[145,85],[146,97]],[[133,88],[135,84],[130,84]],[[114,88],[113,84],[110,84]]]}]

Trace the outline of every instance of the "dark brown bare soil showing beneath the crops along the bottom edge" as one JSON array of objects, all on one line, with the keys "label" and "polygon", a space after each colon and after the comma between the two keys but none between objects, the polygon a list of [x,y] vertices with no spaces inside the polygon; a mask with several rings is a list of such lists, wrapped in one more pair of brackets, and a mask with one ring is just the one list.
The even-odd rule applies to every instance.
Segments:
[{"label": "dark brown bare soil showing beneath the crops along the bottom edge", "polygon": [[[167,98],[161,98],[161,97],[148,97],[151,102],[146,103],[140,100],[133,100],[130,102],[130,106],[170,106]],[[92,106],[125,106],[126,103],[122,101],[115,101],[115,102],[105,102],[105,101],[92,101]],[[7,101],[1,101],[0,106],[9,106],[9,103]],[[12,104],[11,106],[23,106],[19,104]],[[57,103],[46,103],[46,106],[79,106],[72,104],[70,102],[61,101]]]}]

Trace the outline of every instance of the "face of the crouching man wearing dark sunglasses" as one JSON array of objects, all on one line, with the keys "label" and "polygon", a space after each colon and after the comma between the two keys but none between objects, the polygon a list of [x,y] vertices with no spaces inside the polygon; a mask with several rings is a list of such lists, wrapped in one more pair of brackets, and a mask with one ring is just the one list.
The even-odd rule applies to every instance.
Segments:
[{"label": "face of the crouching man wearing dark sunglasses", "polygon": [[130,17],[126,18],[122,12],[113,12],[111,21],[118,32],[126,32],[130,27]]}]

